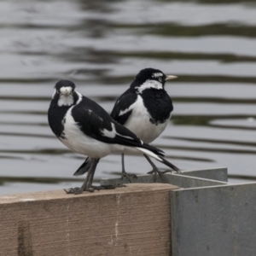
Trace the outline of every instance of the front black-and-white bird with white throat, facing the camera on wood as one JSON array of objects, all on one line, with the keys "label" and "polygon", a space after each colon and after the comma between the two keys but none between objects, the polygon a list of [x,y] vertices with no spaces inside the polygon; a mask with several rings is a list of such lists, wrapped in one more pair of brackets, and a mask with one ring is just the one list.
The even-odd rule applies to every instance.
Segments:
[{"label": "front black-and-white bird with white throat, facing the camera on wood", "polygon": [[[80,194],[102,189],[92,185],[99,160],[114,153],[125,153],[131,148],[167,166],[163,151],[143,143],[134,133],[113,120],[96,102],[75,90],[75,84],[60,80],[49,105],[48,120],[51,130],[68,148],[90,157],[90,169],[81,188],[67,189],[68,194]],[[80,168],[80,167],[79,167]]]}]

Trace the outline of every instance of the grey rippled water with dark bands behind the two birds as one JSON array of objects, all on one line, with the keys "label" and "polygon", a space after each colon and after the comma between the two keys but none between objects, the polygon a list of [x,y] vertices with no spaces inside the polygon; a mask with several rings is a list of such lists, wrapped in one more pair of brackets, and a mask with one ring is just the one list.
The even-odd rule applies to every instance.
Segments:
[{"label": "grey rippled water with dark bands behind the two birds", "polygon": [[[110,112],[144,67],[179,77],[166,84],[174,113],[154,142],[168,160],[255,179],[255,11],[255,1],[239,0],[2,1],[0,194],[79,184],[72,175],[84,157],[47,123],[59,79]],[[137,156],[125,163],[127,172],[150,171]],[[119,155],[108,156],[96,180],[118,172]]]}]

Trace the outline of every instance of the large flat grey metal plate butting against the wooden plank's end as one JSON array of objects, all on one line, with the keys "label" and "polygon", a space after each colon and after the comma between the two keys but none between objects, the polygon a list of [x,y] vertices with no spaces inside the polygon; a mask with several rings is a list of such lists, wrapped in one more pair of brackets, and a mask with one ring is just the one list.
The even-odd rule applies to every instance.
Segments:
[{"label": "large flat grey metal plate butting against the wooden plank's end", "polygon": [[256,254],[256,183],[170,193],[172,256]]}]

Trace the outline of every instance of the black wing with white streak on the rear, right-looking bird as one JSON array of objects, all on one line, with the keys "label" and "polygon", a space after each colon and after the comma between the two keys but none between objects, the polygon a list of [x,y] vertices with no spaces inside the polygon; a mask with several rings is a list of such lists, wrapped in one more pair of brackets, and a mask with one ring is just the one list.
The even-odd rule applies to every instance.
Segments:
[{"label": "black wing with white streak on the rear, right-looking bird", "polygon": [[116,120],[119,124],[125,125],[127,119],[129,119],[132,108],[131,105],[137,101],[137,94],[131,92],[129,88],[126,90],[115,102],[113,110],[111,112],[111,117]]}]

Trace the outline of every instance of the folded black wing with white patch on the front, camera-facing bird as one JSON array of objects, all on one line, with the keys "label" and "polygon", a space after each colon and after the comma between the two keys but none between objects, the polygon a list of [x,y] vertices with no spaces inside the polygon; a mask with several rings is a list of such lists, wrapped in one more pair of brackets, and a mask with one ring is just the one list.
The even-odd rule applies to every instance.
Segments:
[{"label": "folded black wing with white patch on the front, camera-facing bird", "polygon": [[88,137],[102,143],[147,148],[154,154],[164,155],[162,150],[144,144],[133,132],[113,120],[100,105],[85,96],[72,109],[72,115],[80,130]]}]

